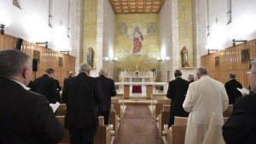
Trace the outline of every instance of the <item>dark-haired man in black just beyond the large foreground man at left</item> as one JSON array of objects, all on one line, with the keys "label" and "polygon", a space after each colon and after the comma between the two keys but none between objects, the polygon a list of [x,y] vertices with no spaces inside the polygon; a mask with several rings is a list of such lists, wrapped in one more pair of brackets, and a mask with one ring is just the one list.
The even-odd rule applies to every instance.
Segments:
[{"label": "dark-haired man in black just beyond the large foreground man at left", "polygon": [[55,71],[48,68],[44,75],[36,78],[32,84],[31,90],[47,97],[49,103],[57,101],[57,88],[55,83]]}]

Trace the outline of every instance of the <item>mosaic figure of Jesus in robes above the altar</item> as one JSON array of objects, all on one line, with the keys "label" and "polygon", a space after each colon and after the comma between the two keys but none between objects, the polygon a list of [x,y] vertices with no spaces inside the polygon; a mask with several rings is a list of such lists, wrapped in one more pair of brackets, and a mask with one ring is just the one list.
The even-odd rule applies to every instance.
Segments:
[{"label": "mosaic figure of Jesus in robes above the altar", "polygon": [[138,27],[135,27],[133,32],[133,51],[132,55],[141,55],[141,50],[143,47],[143,34],[139,31]]}]

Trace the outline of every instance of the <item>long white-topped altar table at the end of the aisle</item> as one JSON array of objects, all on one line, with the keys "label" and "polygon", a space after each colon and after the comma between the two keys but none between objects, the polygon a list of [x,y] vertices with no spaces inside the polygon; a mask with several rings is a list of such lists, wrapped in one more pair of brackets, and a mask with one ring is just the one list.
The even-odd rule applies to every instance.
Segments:
[{"label": "long white-topped altar table at the end of the aisle", "polygon": [[166,95],[167,89],[168,89],[168,84],[167,83],[160,83],[160,82],[124,82],[124,83],[114,83],[115,85],[118,86],[123,86],[124,88],[124,98],[129,99],[130,98],[130,86],[132,85],[141,85],[146,87],[146,98],[151,99],[151,95],[153,94],[153,88],[156,85],[163,86],[163,94]]}]

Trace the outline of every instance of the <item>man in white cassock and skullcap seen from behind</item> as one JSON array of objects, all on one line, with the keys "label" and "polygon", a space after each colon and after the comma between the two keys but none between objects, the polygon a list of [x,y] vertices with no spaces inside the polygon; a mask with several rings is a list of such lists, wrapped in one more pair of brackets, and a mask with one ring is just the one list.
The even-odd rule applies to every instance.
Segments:
[{"label": "man in white cassock and skullcap seen from behind", "polygon": [[185,144],[222,144],[223,112],[229,98],[224,84],[210,78],[207,68],[197,69],[198,81],[189,84],[183,108],[189,113]]}]

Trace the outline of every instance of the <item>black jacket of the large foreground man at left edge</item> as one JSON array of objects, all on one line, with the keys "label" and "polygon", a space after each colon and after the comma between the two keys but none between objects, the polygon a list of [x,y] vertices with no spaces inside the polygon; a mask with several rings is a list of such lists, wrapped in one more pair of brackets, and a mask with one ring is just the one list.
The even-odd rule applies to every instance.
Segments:
[{"label": "black jacket of the large foreground man at left edge", "polygon": [[55,118],[49,101],[0,78],[0,143],[55,144],[61,141],[63,126]]}]

